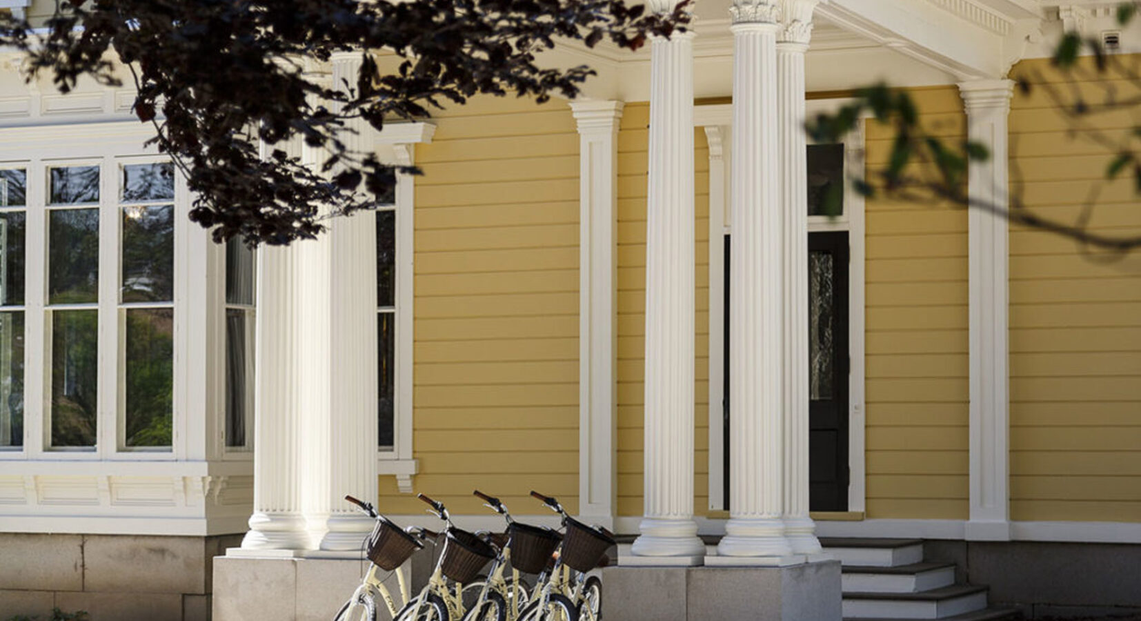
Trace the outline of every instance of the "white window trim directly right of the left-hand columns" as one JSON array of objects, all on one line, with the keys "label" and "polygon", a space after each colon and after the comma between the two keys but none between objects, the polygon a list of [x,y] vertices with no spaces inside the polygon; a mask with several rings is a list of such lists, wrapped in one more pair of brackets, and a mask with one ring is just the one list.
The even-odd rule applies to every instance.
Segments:
[{"label": "white window trim directly right of the left-hand columns", "polygon": [[[430,123],[390,123],[378,135],[375,144],[381,161],[412,166],[415,162],[415,145],[430,143],[436,126]],[[414,292],[414,235],[415,235],[415,177],[396,174],[396,196],[390,208],[396,212],[396,342],[394,355],[396,369],[393,405],[393,449],[377,447],[377,473],[395,475],[397,487],[403,493],[412,492],[412,476],[419,470],[413,458],[413,300]],[[375,231],[375,213],[370,213]],[[379,308],[379,305],[375,305]],[[379,340],[378,340],[379,342]],[[379,358],[380,353],[377,352]],[[379,377],[373,377],[373,394],[379,390]]]}]

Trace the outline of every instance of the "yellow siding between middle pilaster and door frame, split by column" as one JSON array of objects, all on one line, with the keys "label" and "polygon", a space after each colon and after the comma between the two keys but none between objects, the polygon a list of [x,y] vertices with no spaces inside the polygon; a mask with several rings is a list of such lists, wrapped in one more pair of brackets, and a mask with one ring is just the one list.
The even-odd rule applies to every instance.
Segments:
[{"label": "yellow siding between middle pilaster and door frame, split by column", "polygon": [[[645,402],[646,188],[649,105],[626,104],[618,132],[617,514],[642,515]],[[709,505],[709,147],[695,130],[696,169],[696,404],[694,509]]]}]

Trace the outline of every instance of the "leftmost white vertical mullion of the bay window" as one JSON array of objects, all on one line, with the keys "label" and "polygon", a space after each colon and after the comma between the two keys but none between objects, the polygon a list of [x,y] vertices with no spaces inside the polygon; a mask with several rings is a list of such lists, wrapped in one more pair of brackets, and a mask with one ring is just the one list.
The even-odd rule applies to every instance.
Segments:
[{"label": "leftmost white vertical mullion of the bay window", "polygon": [[31,459],[42,457],[44,447],[51,442],[48,425],[50,409],[44,390],[51,369],[44,312],[48,298],[47,185],[42,162],[29,162],[27,236],[24,244],[24,450]]}]

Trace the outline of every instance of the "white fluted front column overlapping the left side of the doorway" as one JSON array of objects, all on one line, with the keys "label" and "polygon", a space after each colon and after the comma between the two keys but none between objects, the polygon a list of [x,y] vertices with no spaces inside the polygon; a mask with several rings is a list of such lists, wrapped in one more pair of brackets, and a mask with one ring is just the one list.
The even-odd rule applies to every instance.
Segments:
[{"label": "white fluted front column overlapping the left side of the doorway", "polygon": [[779,564],[792,553],[782,521],[784,290],[777,2],[738,1],[729,9],[734,22],[729,522],[718,556],[706,564]]}]

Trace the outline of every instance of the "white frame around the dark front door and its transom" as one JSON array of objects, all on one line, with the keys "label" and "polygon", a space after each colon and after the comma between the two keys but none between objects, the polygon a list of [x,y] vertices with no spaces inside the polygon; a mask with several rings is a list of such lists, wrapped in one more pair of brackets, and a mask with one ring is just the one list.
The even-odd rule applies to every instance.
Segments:
[{"label": "white frame around the dark front door and its transom", "polygon": [[[809,99],[807,118],[839,110],[851,99]],[[694,124],[705,130],[710,144],[709,174],[709,506],[710,511],[725,511],[723,498],[723,419],[720,406],[723,398],[723,342],[725,333],[725,235],[731,233],[729,217],[729,161],[731,159],[733,105],[696,106]],[[849,244],[848,300],[849,300],[849,356],[848,377],[848,514],[861,514],[866,507],[865,492],[865,396],[864,396],[864,329],[865,329],[865,239],[864,196],[852,189],[850,170],[864,168],[864,128],[860,124],[844,137],[844,211],[830,216],[809,216],[808,231],[847,231]]]}]

